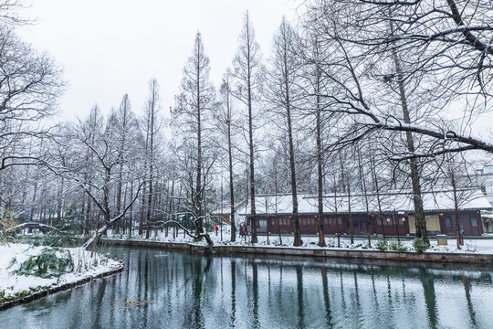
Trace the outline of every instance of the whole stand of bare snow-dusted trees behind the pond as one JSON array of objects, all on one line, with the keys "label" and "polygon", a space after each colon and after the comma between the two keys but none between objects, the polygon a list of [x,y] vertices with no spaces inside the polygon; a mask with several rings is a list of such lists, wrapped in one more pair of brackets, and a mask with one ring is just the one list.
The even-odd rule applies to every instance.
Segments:
[{"label": "whole stand of bare snow-dusted trees behind the pond", "polygon": [[297,200],[309,194],[324,246],[324,194],[408,190],[427,240],[422,194],[474,185],[471,168],[493,154],[493,135],[476,130],[493,105],[490,1],[307,0],[270,49],[246,13],[222,81],[209,79],[201,34],[190,40],[171,120],[151,79],[142,115],[129,90],[109,115],[96,104],[56,125],[66,83],[17,36],[30,24],[22,11],[0,0],[0,207],[17,222],[70,218],[88,235],[145,238],[181,227],[207,239],[214,214],[245,200],[255,217],[256,195],[282,193],[299,246]]}]

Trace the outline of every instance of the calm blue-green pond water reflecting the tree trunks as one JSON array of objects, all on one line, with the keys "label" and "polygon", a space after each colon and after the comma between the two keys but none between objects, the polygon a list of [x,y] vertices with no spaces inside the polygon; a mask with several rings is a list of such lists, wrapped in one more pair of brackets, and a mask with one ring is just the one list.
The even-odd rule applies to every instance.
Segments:
[{"label": "calm blue-green pond water reflecting the tree trunks", "polygon": [[493,327],[491,268],[110,252],[124,272],[0,311],[0,327]]}]

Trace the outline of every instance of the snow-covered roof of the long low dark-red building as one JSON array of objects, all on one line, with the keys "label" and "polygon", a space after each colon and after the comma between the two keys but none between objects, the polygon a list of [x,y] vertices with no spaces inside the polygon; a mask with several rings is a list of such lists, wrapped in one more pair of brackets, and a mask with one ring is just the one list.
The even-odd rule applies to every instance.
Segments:
[{"label": "snow-covered roof of the long low dark-red building", "polygon": [[[459,193],[459,209],[461,210],[488,210],[492,209],[486,196],[479,189],[461,191]],[[390,212],[394,209],[400,212],[414,212],[413,194],[411,192],[387,192],[376,195],[364,196],[361,194],[351,195],[351,212],[366,213],[368,200],[368,211],[379,212],[378,198],[380,198],[380,208],[383,212]],[[348,195],[329,194],[323,196],[324,213],[348,213]],[[292,213],[292,196],[286,195],[261,195],[255,197],[257,215],[262,214],[290,214]],[[298,196],[299,214],[316,214],[318,210],[318,198],[312,195]],[[423,194],[423,206],[425,211],[447,211],[454,210],[454,194],[452,191],[437,191]],[[242,204],[236,208],[238,215],[249,215],[250,204]]]}]

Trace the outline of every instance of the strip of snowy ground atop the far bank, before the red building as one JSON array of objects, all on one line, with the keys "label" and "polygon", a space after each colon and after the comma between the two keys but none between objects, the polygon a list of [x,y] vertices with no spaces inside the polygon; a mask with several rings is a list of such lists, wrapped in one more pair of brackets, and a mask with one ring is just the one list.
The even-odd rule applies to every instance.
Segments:
[{"label": "strip of snowy ground atop the far bank, before the red building", "polygon": [[[223,240],[221,241],[220,232],[215,235],[215,232],[209,232],[211,239],[213,239],[215,245],[246,245],[251,246],[250,237],[247,239],[239,238],[236,234],[236,241],[230,241],[230,231],[229,229],[223,228]],[[125,235],[113,235],[110,231],[108,233],[109,239],[128,239],[128,236]],[[143,237],[140,237],[137,234],[133,234],[131,239],[143,240]],[[258,236],[257,246],[269,246],[272,248],[276,247],[291,247],[293,245],[293,236],[292,235],[282,235],[282,245],[279,243],[279,237],[277,234],[269,235],[269,243],[267,245],[267,236],[261,235]],[[303,240],[303,246],[300,248],[320,248],[317,243],[319,241],[318,237],[315,236],[301,236]],[[366,238],[354,238],[354,244],[351,245],[351,239],[349,236],[341,236],[341,249],[375,249],[376,243],[381,238],[372,237],[372,248],[368,248],[368,239]],[[154,231],[152,231],[152,236],[150,240],[154,241],[169,241],[169,242],[186,242],[186,243],[194,243],[205,245],[205,239],[200,242],[194,242],[190,237],[184,237],[183,230],[179,232],[178,237],[173,239],[173,230],[170,229],[168,232],[168,237],[165,236],[164,232],[158,231],[157,235]],[[387,239],[390,241],[396,241],[397,239]],[[330,249],[338,249],[337,248],[337,238],[326,238],[325,242],[327,244],[327,248]],[[414,251],[413,247],[413,239],[401,239],[403,245],[409,250]],[[467,239],[465,238],[465,244],[460,249],[456,249],[456,239],[448,239],[448,244],[446,246],[438,246],[436,238],[430,237],[430,249],[427,249],[426,252],[475,252],[475,253],[485,253],[485,254],[493,254],[493,239]]]}]

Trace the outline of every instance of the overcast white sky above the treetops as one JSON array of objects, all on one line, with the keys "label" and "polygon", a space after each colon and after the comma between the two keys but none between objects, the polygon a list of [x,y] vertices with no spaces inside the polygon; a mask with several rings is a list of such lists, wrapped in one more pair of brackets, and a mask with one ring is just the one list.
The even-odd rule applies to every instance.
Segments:
[{"label": "overcast white sky above the treetops", "polygon": [[236,52],[249,10],[267,58],[281,17],[296,16],[297,0],[35,0],[26,12],[35,26],[21,31],[64,69],[68,90],[60,116],[86,116],[98,103],[109,112],[128,93],[140,113],[148,81],[161,84],[163,112],[173,106],[182,70],[200,31],[217,86]]}]

